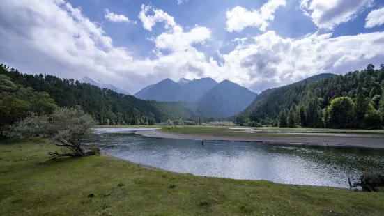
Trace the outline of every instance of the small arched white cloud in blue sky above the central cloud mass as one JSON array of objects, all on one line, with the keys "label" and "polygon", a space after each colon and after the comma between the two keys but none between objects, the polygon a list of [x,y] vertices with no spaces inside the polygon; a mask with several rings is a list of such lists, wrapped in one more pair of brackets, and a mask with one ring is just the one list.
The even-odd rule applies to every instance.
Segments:
[{"label": "small arched white cloud in blue sky above the central cloud mass", "polygon": [[[149,11],[153,11],[154,15],[147,15]],[[139,19],[143,22],[144,29],[152,31],[153,26],[157,22],[164,22],[165,28],[169,29],[176,25],[174,17],[171,17],[160,9],[154,9],[152,6],[141,5],[141,11],[139,13]]]}]

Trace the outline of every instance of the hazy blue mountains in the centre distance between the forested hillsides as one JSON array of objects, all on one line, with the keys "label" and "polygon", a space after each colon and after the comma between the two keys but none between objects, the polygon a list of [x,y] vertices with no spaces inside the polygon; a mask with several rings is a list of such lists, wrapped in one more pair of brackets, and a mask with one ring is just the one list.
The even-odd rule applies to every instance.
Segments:
[{"label": "hazy blue mountains in the centre distance between the forested hillsides", "polygon": [[164,79],[135,93],[142,100],[189,102],[197,116],[226,118],[248,107],[256,93],[229,80],[217,83],[211,78]]}]

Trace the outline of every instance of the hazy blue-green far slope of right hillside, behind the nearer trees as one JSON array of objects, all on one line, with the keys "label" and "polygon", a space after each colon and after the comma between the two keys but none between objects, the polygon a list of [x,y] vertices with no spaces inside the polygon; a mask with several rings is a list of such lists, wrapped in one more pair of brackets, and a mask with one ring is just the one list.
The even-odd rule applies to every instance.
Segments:
[{"label": "hazy blue-green far slope of right hillside, behind the nearer trees", "polygon": [[307,79],[287,86],[267,89],[266,91],[261,92],[252,104],[241,112],[241,115],[252,118],[254,121],[266,119],[267,117],[275,119],[279,115],[281,109],[289,108],[294,103],[298,104],[299,98],[302,97],[306,88],[305,80],[307,80],[308,84],[329,77],[337,77],[337,75],[330,73],[314,75],[313,77],[308,77]]}]

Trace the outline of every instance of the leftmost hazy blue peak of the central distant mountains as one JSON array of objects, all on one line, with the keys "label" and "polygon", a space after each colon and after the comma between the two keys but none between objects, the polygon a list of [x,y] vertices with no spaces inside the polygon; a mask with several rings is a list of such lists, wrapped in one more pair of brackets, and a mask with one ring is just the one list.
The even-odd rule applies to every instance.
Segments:
[{"label": "leftmost hazy blue peak of the central distant mountains", "polygon": [[161,102],[173,102],[174,97],[181,86],[171,79],[164,79],[157,84],[146,86],[138,93],[135,93],[136,98],[142,100],[156,100]]}]

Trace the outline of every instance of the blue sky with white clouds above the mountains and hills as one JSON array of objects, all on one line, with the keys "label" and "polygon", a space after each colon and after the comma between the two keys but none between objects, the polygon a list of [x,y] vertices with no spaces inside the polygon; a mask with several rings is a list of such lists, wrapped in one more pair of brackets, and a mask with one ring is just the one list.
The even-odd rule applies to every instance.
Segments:
[{"label": "blue sky with white clouds above the mountains and hills", "polygon": [[1,0],[0,63],[136,93],[171,78],[259,93],[384,63],[384,0]]}]

